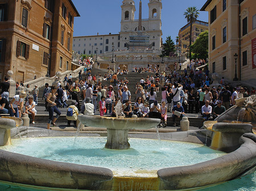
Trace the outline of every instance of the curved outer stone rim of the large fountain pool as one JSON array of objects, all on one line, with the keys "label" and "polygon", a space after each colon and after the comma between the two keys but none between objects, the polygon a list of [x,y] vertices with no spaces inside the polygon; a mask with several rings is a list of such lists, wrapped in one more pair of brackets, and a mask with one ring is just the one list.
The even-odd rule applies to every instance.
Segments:
[{"label": "curved outer stone rim of the large fountain pool", "polygon": [[[163,139],[198,143],[200,131],[202,130],[193,133],[168,133],[164,134]],[[27,135],[29,134],[32,133],[28,132]],[[40,137],[45,137],[47,134],[49,135],[47,130],[38,132]],[[65,133],[67,134],[71,133]],[[56,136],[59,135],[56,134]],[[146,134],[143,136],[147,138]],[[152,138],[148,134],[149,137]],[[124,190],[135,190],[136,185],[148,185],[151,190],[197,188],[253,173],[256,168],[255,142],[255,134],[245,133],[240,138],[241,146],[229,154],[194,165],[159,169],[154,177],[146,175],[144,177],[126,175],[117,177],[108,168],[53,162],[0,150],[0,180],[53,188],[86,190],[119,190],[120,185],[134,186],[124,187]]]}]

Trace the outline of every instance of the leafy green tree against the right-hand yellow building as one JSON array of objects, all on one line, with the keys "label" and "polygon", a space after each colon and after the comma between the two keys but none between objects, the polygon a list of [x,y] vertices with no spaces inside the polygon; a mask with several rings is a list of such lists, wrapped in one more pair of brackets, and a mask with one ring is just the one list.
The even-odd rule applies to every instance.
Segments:
[{"label": "leafy green tree against the right-hand yellow building", "polygon": [[193,59],[204,58],[206,60],[208,58],[208,31],[200,33],[190,50],[194,53]]}]

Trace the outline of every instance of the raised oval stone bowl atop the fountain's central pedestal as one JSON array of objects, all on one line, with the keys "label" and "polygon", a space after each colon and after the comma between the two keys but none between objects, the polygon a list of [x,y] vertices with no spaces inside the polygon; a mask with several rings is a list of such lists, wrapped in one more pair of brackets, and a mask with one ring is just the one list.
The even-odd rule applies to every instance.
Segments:
[{"label": "raised oval stone bowl atop the fountain's central pedestal", "polygon": [[78,116],[79,121],[86,126],[105,127],[113,130],[149,129],[159,125],[156,118],[117,118],[101,116]]}]

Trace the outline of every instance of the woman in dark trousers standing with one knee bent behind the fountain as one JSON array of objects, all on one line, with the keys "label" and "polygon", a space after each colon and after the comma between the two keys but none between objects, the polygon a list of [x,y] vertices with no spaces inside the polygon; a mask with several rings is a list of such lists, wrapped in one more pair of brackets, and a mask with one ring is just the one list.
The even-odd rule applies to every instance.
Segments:
[{"label": "woman in dark trousers standing with one knee bent behind the fountain", "polygon": [[[48,124],[47,124],[47,129],[50,129],[50,125],[56,125],[55,121],[57,120],[57,118],[60,117],[61,112],[59,111],[59,109],[56,107],[56,103],[55,103],[55,99],[56,99],[56,91],[57,88],[55,86],[52,86],[51,88],[51,92],[49,92],[48,96],[47,96],[47,103],[48,103],[48,111],[49,111],[49,120],[48,120]],[[53,118],[53,112],[56,113],[55,118]]]}]

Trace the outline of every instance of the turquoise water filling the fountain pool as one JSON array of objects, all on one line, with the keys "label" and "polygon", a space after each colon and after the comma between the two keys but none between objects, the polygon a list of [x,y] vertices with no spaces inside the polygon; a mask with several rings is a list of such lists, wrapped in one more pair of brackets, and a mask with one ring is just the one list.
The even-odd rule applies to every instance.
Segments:
[{"label": "turquoise water filling the fountain pool", "polygon": [[[72,137],[23,138],[13,139],[11,146],[0,147],[3,150],[26,154],[42,159],[76,164],[106,167],[112,171],[135,171],[137,169],[160,169],[191,165],[225,155],[224,152],[208,147],[184,142],[158,141],[151,139],[130,139],[129,150],[108,150],[104,148],[106,138],[78,137],[73,143]],[[60,190],[27,186],[0,181],[0,190]],[[62,189],[70,190],[70,189]],[[203,191],[242,191],[256,190],[256,172],[237,180],[211,186]]]}]

